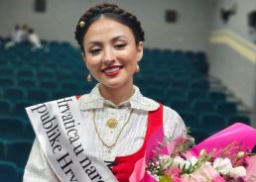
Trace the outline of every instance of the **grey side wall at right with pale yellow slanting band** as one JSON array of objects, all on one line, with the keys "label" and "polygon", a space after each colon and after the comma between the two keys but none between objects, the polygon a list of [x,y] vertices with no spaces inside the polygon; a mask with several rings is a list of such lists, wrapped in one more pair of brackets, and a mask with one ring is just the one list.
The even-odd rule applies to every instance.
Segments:
[{"label": "grey side wall at right with pale yellow slanting band", "polygon": [[[225,24],[220,19],[220,9],[232,7],[236,7],[236,13]],[[220,78],[255,113],[256,32],[250,32],[247,22],[248,13],[252,10],[256,10],[255,0],[216,1],[211,30],[227,30],[228,34],[219,34],[222,44],[212,44],[208,55],[210,74]],[[243,48],[248,52],[243,53]]]}]

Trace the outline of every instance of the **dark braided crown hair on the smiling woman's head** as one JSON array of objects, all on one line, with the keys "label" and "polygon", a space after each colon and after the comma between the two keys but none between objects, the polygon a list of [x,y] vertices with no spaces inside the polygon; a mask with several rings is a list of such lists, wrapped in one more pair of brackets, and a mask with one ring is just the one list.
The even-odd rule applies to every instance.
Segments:
[{"label": "dark braided crown hair on the smiling woman's head", "polygon": [[139,45],[139,42],[144,42],[144,31],[141,28],[140,21],[138,21],[134,15],[119,8],[115,4],[103,3],[87,10],[78,21],[75,30],[75,40],[82,51],[84,51],[82,45],[84,35],[86,34],[90,25],[98,20],[101,15],[129,27],[132,30],[137,46]]}]

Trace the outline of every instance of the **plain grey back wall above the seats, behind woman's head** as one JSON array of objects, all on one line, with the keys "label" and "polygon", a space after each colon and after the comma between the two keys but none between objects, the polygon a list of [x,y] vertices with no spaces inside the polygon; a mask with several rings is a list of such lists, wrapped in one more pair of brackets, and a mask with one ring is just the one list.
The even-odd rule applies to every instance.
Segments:
[{"label": "plain grey back wall above the seats, behind woman's head", "polygon": [[[47,0],[46,13],[35,13],[34,0],[0,1],[0,36],[8,36],[13,26],[28,24],[42,39],[74,43],[75,25],[85,9],[102,1]],[[115,0],[134,13],[146,32],[145,46],[206,50],[213,1],[205,0]],[[178,22],[165,22],[165,11],[175,9]]]}]

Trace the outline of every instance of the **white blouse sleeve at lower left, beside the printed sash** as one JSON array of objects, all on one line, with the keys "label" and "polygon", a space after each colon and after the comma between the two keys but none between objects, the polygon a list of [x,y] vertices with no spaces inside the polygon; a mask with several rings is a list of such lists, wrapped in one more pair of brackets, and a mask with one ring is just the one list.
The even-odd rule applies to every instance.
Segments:
[{"label": "white blouse sleeve at lower left, beside the printed sash", "polygon": [[23,182],[59,182],[37,138],[25,167]]}]

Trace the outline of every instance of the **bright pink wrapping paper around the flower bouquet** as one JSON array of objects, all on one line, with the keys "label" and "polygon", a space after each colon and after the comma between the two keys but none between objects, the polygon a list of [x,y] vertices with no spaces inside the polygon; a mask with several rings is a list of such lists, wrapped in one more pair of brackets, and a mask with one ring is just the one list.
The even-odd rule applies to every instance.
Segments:
[{"label": "bright pink wrapping paper around the flower bouquet", "polygon": [[[146,163],[153,156],[152,149],[154,149],[157,146],[157,141],[163,140],[163,137],[164,134],[163,130],[161,129],[158,130],[153,137],[151,137],[146,148],[145,156],[135,164],[134,171],[129,178],[130,182],[157,182],[156,179],[154,179],[148,173],[146,173],[145,168]],[[244,124],[234,124],[222,130],[221,132],[206,138],[205,140],[201,141],[200,143],[192,147],[191,154],[194,156],[198,156],[201,149],[205,149],[207,152],[211,151],[213,148],[221,149],[233,141],[243,143],[241,149],[252,150],[252,148],[256,144],[256,130]],[[163,150],[162,154],[172,152],[170,146],[167,147],[168,148],[165,148]],[[247,174],[256,175],[256,156],[248,158],[248,163],[249,167],[246,169]]]}]

